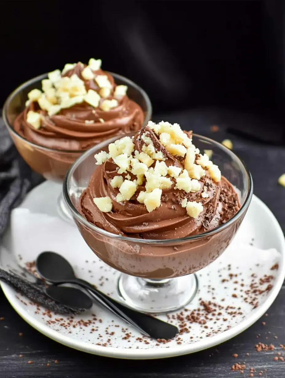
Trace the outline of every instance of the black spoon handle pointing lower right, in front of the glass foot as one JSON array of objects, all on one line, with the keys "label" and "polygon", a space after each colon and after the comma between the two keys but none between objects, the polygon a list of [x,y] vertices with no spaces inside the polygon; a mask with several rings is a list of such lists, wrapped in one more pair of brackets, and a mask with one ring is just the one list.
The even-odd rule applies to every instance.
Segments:
[{"label": "black spoon handle pointing lower right, in front of the glass foot", "polygon": [[171,339],[178,333],[178,328],[176,326],[140,311],[132,310],[132,308],[126,307],[120,302],[108,297],[100,290],[95,289],[89,282],[82,279],[76,279],[74,283],[77,283],[78,285],[89,290],[92,294],[94,294],[97,300],[100,299],[98,301],[103,304],[104,307],[107,307],[110,311],[115,313],[124,321],[133,325],[146,336],[150,336],[155,339]]}]

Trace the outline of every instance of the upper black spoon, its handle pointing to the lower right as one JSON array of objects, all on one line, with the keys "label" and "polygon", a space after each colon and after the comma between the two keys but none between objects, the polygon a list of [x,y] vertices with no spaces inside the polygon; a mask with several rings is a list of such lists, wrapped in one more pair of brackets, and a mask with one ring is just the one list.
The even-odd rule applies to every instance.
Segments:
[{"label": "upper black spoon, its handle pointing to the lower right", "polygon": [[108,297],[100,290],[95,289],[90,283],[77,278],[70,263],[55,252],[42,252],[37,257],[36,267],[40,276],[49,282],[57,285],[60,283],[74,283],[87,289],[101,305],[139,329],[144,335],[155,339],[167,340],[172,339],[179,332],[176,326],[140,311],[132,310]]}]

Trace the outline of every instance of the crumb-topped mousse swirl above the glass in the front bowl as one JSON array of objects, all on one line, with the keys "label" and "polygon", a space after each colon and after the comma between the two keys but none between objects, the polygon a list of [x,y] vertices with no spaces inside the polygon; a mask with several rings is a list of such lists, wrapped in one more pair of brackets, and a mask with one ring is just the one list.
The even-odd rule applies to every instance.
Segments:
[{"label": "crumb-topped mousse swirl above the glass in the front bowl", "polygon": [[178,239],[212,230],[240,209],[234,187],[178,124],[150,121],[95,158],[79,210],[113,234]]}]

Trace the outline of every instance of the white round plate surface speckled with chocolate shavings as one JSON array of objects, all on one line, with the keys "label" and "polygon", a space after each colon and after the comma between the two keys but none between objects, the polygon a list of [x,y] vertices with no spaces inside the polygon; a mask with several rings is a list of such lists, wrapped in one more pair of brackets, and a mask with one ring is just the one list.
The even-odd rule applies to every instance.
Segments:
[{"label": "white round plate surface speckled with chocolate shavings", "polygon": [[[44,250],[65,256],[79,277],[118,299],[119,273],[101,262],[75,226],[56,215],[57,184],[33,189],[11,217],[1,241],[0,264],[11,268],[33,261]],[[199,271],[199,291],[185,310],[160,315],[178,325],[171,341],[142,337],[112,314],[93,305],[70,318],[47,313],[2,283],[14,309],[31,326],[69,347],[103,356],[151,359],[197,352],[220,344],[248,328],[270,307],[285,276],[283,232],[271,211],[253,197],[234,241],[215,262]]]}]

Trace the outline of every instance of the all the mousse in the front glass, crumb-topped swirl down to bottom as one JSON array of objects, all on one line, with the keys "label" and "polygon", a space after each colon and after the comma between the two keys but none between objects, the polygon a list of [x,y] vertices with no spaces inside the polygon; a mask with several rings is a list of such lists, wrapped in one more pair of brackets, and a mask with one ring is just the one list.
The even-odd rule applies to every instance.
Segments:
[{"label": "all the mousse in the front glass, crumb-topped swirl down to bottom", "polygon": [[178,124],[150,121],[95,159],[78,210],[113,237],[77,224],[90,248],[124,273],[152,279],[194,273],[220,256],[245,214],[219,228],[239,211],[238,195]]}]

